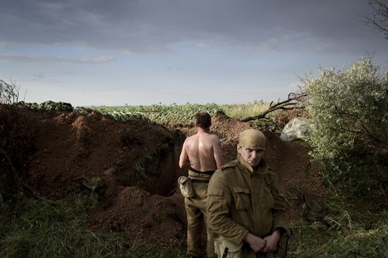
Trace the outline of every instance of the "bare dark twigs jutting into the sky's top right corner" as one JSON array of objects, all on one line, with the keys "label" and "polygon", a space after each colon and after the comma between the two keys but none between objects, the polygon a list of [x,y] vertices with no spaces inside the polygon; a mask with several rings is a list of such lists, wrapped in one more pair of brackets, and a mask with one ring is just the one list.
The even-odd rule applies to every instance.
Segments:
[{"label": "bare dark twigs jutting into the sky's top right corner", "polygon": [[363,22],[372,25],[380,32],[384,32],[385,39],[388,39],[388,1],[369,0],[368,4],[373,9],[372,17],[361,16],[364,18]]}]

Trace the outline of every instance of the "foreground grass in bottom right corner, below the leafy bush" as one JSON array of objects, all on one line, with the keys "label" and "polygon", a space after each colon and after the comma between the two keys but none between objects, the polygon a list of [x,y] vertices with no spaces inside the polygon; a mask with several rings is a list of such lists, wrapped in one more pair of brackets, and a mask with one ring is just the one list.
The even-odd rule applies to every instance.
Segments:
[{"label": "foreground grass in bottom right corner, below the leafy bush", "polygon": [[341,213],[332,217],[331,228],[291,221],[289,257],[388,257],[388,212],[361,214],[351,204],[337,204]]}]

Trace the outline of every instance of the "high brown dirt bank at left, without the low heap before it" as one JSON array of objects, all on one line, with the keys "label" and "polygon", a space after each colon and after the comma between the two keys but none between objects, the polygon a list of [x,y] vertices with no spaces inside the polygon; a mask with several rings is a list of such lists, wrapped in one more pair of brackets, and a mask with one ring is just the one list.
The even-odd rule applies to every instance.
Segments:
[{"label": "high brown dirt bank at left, without the low heap before it", "polygon": [[[143,120],[119,123],[96,112],[30,116],[40,123],[28,176],[43,195],[61,198],[79,178],[99,176],[115,176],[119,185],[169,193],[175,177],[174,139],[166,128]],[[171,175],[162,177],[161,171]]]}]

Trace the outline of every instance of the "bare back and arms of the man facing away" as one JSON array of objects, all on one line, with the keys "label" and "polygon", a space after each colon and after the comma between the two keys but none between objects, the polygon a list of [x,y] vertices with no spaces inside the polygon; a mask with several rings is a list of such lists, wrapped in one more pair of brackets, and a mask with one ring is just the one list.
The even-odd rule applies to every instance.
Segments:
[{"label": "bare back and arms of the man facing away", "polygon": [[217,135],[199,131],[183,143],[179,166],[198,171],[214,171],[223,165],[221,142]]}]

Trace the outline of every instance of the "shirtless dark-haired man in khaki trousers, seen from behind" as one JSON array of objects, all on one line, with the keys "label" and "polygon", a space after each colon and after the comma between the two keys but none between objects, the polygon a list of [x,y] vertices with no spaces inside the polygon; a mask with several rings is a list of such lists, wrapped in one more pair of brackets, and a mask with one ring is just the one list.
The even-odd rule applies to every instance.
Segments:
[{"label": "shirtless dark-haired man in khaki trousers, seen from behind", "polygon": [[193,185],[194,197],[185,197],[187,213],[187,251],[188,257],[201,257],[203,223],[207,229],[207,257],[217,257],[214,254],[214,233],[207,226],[206,200],[207,184],[217,168],[223,164],[221,142],[217,135],[209,132],[212,124],[208,113],[195,115],[197,133],[186,138],[183,143],[179,166],[188,168],[188,176]]}]

